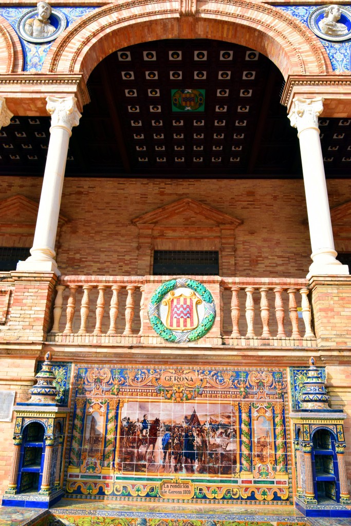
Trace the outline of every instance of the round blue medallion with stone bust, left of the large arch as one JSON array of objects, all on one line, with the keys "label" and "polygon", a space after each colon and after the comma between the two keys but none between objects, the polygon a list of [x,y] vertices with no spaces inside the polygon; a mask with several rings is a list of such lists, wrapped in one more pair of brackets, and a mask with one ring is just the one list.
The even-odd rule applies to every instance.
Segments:
[{"label": "round blue medallion with stone bust, left of the large arch", "polygon": [[38,2],[36,9],[27,11],[18,21],[17,31],[27,42],[42,44],[51,42],[67,25],[66,17],[47,2]]}]

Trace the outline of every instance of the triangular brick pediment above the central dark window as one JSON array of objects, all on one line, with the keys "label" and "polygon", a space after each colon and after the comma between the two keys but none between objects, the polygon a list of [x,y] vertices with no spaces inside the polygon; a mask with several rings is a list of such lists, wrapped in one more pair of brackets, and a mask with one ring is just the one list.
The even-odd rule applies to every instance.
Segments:
[{"label": "triangular brick pediment above the central dark window", "polygon": [[157,208],[147,214],[136,217],[133,223],[138,227],[144,225],[161,226],[230,226],[236,228],[242,223],[240,219],[220,212],[216,208],[199,203],[188,197],[175,201],[169,205]]}]

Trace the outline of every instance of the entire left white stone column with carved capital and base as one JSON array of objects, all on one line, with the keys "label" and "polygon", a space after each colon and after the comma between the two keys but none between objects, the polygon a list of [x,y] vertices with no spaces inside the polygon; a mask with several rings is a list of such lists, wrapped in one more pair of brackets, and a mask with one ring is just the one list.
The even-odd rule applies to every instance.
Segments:
[{"label": "entire left white stone column with carved capital and base", "polygon": [[73,126],[77,126],[81,114],[77,110],[75,97],[46,98],[46,109],[51,115],[50,141],[35,227],[31,256],[19,261],[17,270],[51,271],[59,276],[55,261],[55,240],[65,175],[68,141]]}]

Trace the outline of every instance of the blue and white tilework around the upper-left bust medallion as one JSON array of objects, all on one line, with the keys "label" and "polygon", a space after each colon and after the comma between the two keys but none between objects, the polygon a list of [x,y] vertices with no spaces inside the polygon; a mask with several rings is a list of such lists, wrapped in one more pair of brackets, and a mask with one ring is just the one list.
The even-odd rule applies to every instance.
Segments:
[{"label": "blue and white tilework around the upper-left bust medallion", "polygon": [[[78,18],[92,13],[97,7],[55,7],[57,11],[64,14],[67,19],[67,26],[73,24]],[[0,15],[3,16],[17,33],[17,23],[19,18],[28,11],[27,7],[0,7]],[[51,48],[52,42],[44,44],[32,44],[18,37],[21,42],[24,64],[23,71],[41,72],[45,57]]]}]

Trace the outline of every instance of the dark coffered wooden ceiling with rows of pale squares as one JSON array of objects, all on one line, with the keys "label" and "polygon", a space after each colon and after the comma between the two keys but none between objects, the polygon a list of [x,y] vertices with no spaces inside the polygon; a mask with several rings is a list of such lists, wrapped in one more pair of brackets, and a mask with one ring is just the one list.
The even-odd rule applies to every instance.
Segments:
[{"label": "dark coffered wooden ceiling with rows of pale squares", "polygon": [[[263,55],[209,40],[139,44],[106,57],[88,80],[66,176],[272,178],[302,175],[284,79]],[[348,177],[351,120],[320,119],[328,177]],[[49,118],[0,131],[4,175],[42,176]]]}]

